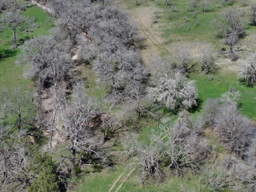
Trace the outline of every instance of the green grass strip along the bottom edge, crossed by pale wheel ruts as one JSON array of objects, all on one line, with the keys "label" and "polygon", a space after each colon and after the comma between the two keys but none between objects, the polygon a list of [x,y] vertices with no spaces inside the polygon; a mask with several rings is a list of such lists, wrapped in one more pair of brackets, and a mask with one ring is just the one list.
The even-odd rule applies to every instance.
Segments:
[{"label": "green grass strip along the bottom edge, crossed by pale wheel ruts", "polygon": [[[125,163],[128,164],[128,163]],[[118,177],[121,175],[120,179],[116,182],[115,186],[113,186],[111,192],[116,191],[120,185],[119,192],[125,191],[180,191],[184,186],[184,188],[199,191],[200,188],[199,178],[195,175],[185,175],[182,179],[181,177],[169,177],[165,182],[159,183],[151,183],[151,184],[141,184],[136,178],[137,170],[135,169],[131,173],[131,177],[128,177],[127,180],[124,180],[126,175],[132,170],[132,167],[126,166],[125,164],[115,166],[114,168],[107,168],[100,173],[90,173],[88,175],[84,175],[81,179],[75,180],[76,182],[83,182],[78,189],[77,192],[82,191],[109,191],[113,186],[114,182],[118,180]],[[122,175],[122,173],[124,173]],[[208,191],[204,189],[204,191]]]}]

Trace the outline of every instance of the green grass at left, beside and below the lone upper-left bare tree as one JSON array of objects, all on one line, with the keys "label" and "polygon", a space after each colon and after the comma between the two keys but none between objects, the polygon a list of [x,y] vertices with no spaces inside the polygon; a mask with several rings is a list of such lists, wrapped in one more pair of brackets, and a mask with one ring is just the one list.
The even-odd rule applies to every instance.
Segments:
[{"label": "green grass at left, beside and below the lone upper-left bare tree", "polygon": [[[18,36],[19,44],[33,36],[49,34],[49,29],[54,26],[54,19],[36,6],[28,8],[22,14],[34,17],[36,24],[38,24],[38,28],[31,34],[20,33]],[[21,85],[24,86],[25,89],[31,90],[31,81],[24,79],[22,76],[24,65],[15,65],[16,56],[20,52],[19,47],[18,49],[9,49],[11,47],[9,43],[11,36],[12,32],[8,29],[4,29],[0,33],[0,87],[11,88],[12,86]]]}]

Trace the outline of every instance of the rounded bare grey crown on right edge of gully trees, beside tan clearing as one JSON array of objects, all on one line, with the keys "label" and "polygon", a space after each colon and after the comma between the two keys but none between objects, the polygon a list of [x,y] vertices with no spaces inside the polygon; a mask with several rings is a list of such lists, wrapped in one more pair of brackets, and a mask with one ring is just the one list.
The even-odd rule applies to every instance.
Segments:
[{"label": "rounded bare grey crown on right edge of gully trees, beside tan clearing", "polygon": [[[109,46],[111,49],[112,45]],[[112,98],[122,99],[131,93],[132,86],[148,81],[148,72],[138,62],[138,53],[120,46],[113,51],[99,53],[93,68],[97,72],[101,84],[108,86]]]}]

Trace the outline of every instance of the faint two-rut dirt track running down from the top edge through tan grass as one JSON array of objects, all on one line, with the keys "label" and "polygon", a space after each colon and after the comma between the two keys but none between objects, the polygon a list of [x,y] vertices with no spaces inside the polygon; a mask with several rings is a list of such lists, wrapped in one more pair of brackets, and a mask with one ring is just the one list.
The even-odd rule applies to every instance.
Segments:
[{"label": "faint two-rut dirt track running down from the top edge through tan grass", "polygon": [[134,6],[131,3],[129,3],[129,1],[127,0],[124,0],[124,3],[127,4],[130,12],[132,13],[132,17],[134,17],[134,20],[138,23],[140,30],[143,32],[143,34],[147,38],[149,44],[151,44],[152,47],[155,47],[158,51],[162,52],[163,54],[170,54],[168,49],[166,49],[165,47],[163,47],[163,45],[159,43],[159,41],[157,40],[157,36],[155,36],[152,33],[152,31],[149,28],[147,28],[147,26],[145,26],[145,24],[143,24]]}]

